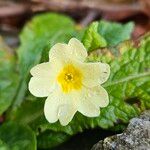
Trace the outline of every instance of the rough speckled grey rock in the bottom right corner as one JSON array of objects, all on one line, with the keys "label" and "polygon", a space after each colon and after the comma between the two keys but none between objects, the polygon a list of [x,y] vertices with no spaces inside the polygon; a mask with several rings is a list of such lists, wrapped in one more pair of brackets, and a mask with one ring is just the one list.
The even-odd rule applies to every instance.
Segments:
[{"label": "rough speckled grey rock in the bottom right corner", "polygon": [[150,110],[131,119],[122,134],[99,141],[92,150],[150,150]]}]

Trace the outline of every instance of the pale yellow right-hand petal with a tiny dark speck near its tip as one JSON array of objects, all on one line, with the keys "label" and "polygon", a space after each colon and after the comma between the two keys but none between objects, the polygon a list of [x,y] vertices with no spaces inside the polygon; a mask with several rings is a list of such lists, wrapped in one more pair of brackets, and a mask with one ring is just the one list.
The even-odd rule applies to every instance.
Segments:
[{"label": "pale yellow right-hand petal with a tiny dark speck near its tip", "polygon": [[104,83],[110,75],[110,67],[105,63],[83,63],[83,84],[87,87],[97,86]]}]

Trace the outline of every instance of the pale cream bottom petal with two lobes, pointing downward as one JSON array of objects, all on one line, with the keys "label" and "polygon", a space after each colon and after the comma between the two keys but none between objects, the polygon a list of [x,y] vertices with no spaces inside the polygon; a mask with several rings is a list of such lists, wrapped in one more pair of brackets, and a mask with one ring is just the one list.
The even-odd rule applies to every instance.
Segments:
[{"label": "pale cream bottom petal with two lobes, pointing downward", "polygon": [[46,119],[50,122],[60,120],[61,125],[67,125],[76,113],[77,108],[74,105],[71,94],[63,94],[60,88],[56,88],[46,99],[44,113]]}]

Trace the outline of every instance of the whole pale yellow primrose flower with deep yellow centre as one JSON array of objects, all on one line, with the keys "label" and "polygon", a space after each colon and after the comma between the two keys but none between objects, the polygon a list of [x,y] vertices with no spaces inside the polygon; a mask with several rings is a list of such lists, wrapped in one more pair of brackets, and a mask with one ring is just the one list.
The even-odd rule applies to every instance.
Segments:
[{"label": "whole pale yellow primrose flower with deep yellow centre", "polygon": [[86,63],[87,51],[72,38],[68,44],[55,44],[49,52],[49,62],[31,69],[30,92],[47,97],[44,114],[48,122],[67,125],[77,111],[97,117],[100,107],[109,103],[107,91],[100,85],[110,74],[108,64]]}]

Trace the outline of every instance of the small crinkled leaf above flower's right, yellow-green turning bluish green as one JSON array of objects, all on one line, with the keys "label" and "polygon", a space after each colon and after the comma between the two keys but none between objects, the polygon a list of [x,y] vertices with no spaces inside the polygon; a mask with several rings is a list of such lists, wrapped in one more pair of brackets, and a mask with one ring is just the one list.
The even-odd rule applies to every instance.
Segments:
[{"label": "small crinkled leaf above flower's right, yellow-green turning bluish green", "polygon": [[[83,36],[83,44],[88,51],[93,51],[103,47],[114,47],[120,42],[131,38],[134,23],[129,22],[120,24],[116,22],[93,22],[85,31]],[[116,53],[115,49],[111,49]]]}]

